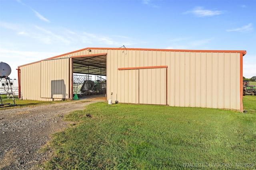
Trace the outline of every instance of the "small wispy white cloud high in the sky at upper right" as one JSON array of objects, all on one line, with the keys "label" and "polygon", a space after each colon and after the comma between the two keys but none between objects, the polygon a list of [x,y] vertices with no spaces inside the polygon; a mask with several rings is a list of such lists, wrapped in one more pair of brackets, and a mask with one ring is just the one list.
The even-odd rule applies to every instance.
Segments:
[{"label": "small wispy white cloud high in the sky at upper right", "polygon": [[226,11],[220,11],[220,10],[205,10],[203,7],[198,6],[194,8],[193,10],[183,12],[182,14],[194,14],[198,17],[207,17],[207,16],[218,16],[220,14],[224,14]]}]

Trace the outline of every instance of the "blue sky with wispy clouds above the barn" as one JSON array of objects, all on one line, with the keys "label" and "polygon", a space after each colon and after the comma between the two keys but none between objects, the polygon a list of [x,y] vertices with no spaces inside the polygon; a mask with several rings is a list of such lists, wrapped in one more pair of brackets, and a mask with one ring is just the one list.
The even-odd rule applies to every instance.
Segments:
[{"label": "blue sky with wispy clouds above the barn", "polygon": [[255,0],[0,0],[0,61],[12,68],[86,47],[246,50],[256,76]]}]

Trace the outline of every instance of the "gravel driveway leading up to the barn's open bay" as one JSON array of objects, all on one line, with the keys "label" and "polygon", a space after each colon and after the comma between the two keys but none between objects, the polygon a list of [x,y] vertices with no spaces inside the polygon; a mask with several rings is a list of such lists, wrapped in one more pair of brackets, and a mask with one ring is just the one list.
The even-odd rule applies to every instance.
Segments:
[{"label": "gravel driveway leading up to the barn's open bay", "polygon": [[50,140],[50,134],[70,124],[62,120],[63,116],[94,102],[106,102],[106,98],[1,109],[0,169],[37,169],[36,165],[44,162],[50,154],[38,150]]}]

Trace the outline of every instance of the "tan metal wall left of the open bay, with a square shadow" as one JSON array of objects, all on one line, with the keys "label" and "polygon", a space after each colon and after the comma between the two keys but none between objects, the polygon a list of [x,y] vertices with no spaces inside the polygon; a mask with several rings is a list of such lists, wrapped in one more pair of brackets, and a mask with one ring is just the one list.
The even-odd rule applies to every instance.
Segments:
[{"label": "tan metal wall left of the open bay, with a square shadow", "polygon": [[63,100],[70,97],[70,59],[40,61],[20,67],[20,98]]}]

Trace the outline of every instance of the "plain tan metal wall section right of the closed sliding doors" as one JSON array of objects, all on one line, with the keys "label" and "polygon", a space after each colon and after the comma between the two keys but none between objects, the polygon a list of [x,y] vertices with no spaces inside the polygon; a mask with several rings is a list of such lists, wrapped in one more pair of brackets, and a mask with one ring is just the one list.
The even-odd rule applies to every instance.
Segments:
[{"label": "plain tan metal wall section right of the closed sliding doors", "polygon": [[171,60],[170,106],[240,109],[240,53],[176,52]]}]

